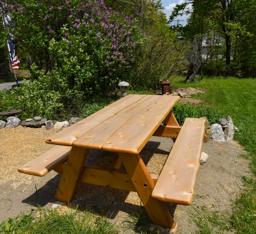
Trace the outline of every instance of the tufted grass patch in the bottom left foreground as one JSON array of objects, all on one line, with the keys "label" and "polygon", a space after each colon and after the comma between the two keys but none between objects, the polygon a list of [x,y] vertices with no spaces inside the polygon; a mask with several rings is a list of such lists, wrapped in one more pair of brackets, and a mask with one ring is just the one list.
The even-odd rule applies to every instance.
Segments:
[{"label": "tufted grass patch in the bottom left foreground", "polygon": [[[37,214],[37,215],[35,215]],[[41,210],[0,224],[1,234],[117,234],[117,227],[109,220],[88,211],[69,209],[66,212]]]}]

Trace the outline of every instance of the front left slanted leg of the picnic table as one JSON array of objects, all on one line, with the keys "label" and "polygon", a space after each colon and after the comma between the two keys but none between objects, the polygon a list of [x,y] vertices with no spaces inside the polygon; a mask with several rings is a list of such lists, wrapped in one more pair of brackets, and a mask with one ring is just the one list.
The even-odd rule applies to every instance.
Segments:
[{"label": "front left slanted leg of the picnic table", "polygon": [[86,148],[72,147],[67,166],[61,176],[55,199],[70,202],[75,194],[76,181],[80,178],[89,150]]}]

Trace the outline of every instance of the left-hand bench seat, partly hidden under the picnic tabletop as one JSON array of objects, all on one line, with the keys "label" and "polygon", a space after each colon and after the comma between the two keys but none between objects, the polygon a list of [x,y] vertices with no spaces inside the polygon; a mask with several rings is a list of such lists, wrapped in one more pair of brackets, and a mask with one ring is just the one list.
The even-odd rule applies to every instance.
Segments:
[{"label": "left-hand bench seat, partly hidden under the picnic tabletop", "polygon": [[70,146],[56,146],[20,167],[18,171],[33,176],[45,176],[55,166],[68,160],[70,150]]}]

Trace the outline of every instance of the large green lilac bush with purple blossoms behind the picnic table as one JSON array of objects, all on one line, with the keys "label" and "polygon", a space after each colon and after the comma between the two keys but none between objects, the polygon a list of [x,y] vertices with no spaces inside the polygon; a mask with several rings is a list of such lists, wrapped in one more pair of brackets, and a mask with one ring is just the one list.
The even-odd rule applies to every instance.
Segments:
[{"label": "large green lilac bush with purple blossoms behind the picnic table", "polygon": [[54,70],[65,92],[110,90],[118,80],[127,80],[133,54],[145,41],[132,15],[107,8],[103,0],[4,4],[15,23],[12,33],[18,45],[35,62],[33,69],[45,74]]}]

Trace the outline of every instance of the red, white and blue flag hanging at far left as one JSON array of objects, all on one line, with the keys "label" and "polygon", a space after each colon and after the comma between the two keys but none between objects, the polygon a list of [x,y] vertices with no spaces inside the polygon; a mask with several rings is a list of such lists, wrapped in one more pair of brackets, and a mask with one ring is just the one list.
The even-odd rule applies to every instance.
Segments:
[{"label": "red, white and blue flag hanging at far left", "polygon": [[[8,15],[8,13],[6,13],[4,10],[5,10],[4,3],[2,3],[1,15],[3,17],[4,27],[7,29],[10,26],[10,24],[12,23],[12,20],[11,20],[10,15]],[[14,39],[11,34],[9,34],[9,36],[8,36],[7,46],[8,46],[8,50],[9,50],[9,54],[10,54],[10,60],[12,63],[12,69],[14,71],[16,71],[19,69],[20,61],[18,60],[17,52],[15,49]]]}]

